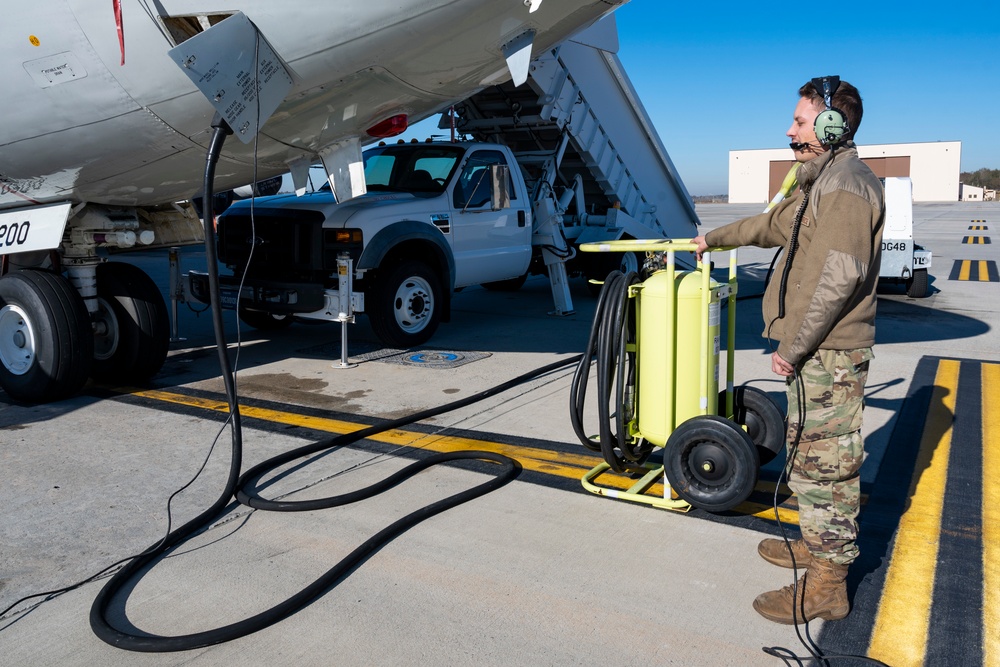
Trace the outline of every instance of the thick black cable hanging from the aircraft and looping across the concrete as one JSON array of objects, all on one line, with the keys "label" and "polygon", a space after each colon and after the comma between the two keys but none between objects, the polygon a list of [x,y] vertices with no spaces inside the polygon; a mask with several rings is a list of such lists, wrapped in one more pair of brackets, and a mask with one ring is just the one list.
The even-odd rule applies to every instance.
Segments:
[{"label": "thick black cable hanging from the aircraft and looping across the concrete", "polygon": [[[356,442],[377,433],[382,433],[393,428],[399,428],[400,426],[414,423],[422,419],[427,419],[431,416],[439,415],[450,410],[455,410],[465,405],[469,405],[470,403],[483,400],[493,396],[494,394],[506,391],[511,387],[545,375],[546,373],[550,373],[554,370],[570,365],[575,365],[580,359],[580,357],[577,356],[571,359],[548,364],[547,366],[537,368],[533,371],[520,375],[513,380],[479,392],[478,394],[468,398],[454,401],[438,408],[424,410],[422,412],[386,422],[378,426],[371,426],[355,433],[337,436],[307,445],[305,447],[299,447],[265,461],[264,463],[258,464],[248,470],[244,475],[240,476],[243,452],[242,429],[240,424],[239,405],[236,396],[235,378],[232,371],[232,365],[229,362],[227,354],[225,331],[222,321],[222,309],[218,300],[218,261],[215,252],[215,234],[212,224],[214,218],[212,190],[215,177],[215,165],[222,152],[222,145],[225,142],[225,137],[232,131],[223,121],[221,121],[221,119],[217,119],[216,122],[213,122],[213,127],[215,129],[212,134],[210,148],[206,156],[205,167],[205,250],[208,261],[209,285],[212,297],[212,324],[215,330],[216,346],[219,351],[219,364],[222,369],[222,376],[226,389],[226,398],[230,407],[229,419],[231,420],[230,428],[232,430],[232,458],[230,461],[229,475],[226,480],[225,487],[218,499],[208,509],[204,510],[194,519],[188,521],[177,530],[168,533],[163,540],[129,561],[105,584],[104,588],[95,598],[90,610],[90,626],[94,631],[94,634],[112,646],[130,651],[169,652],[202,648],[243,637],[273,625],[294,614],[313,600],[322,596],[331,587],[346,577],[352,569],[364,562],[371,554],[378,551],[380,548],[388,544],[393,538],[397,537],[407,529],[420,523],[424,519],[500,488],[515,479],[520,473],[521,467],[515,460],[493,452],[464,451],[437,454],[412,463],[399,472],[391,475],[389,478],[366,489],[361,489],[359,491],[332,498],[299,502],[271,501],[263,499],[256,494],[256,488],[254,485],[270,470],[284,465],[293,459],[306,456],[322,449],[343,446],[350,442]],[[330,570],[305,589],[299,591],[292,597],[271,607],[270,609],[242,621],[231,623],[219,628],[174,637],[130,634],[129,632],[125,632],[115,627],[108,619],[111,603],[117,599],[121,591],[128,584],[130,584],[136,577],[141,577],[146,568],[154,565],[155,562],[167,551],[191,537],[194,533],[208,527],[214,520],[224,515],[230,499],[234,495],[240,502],[258,509],[302,511],[321,507],[334,507],[369,498],[377,493],[398,485],[405,479],[416,475],[430,466],[449,461],[462,461],[470,459],[495,463],[499,466],[499,469],[492,479],[482,484],[478,484],[470,489],[466,489],[465,491],[449,496],[448,498],[444,498],[427,505],[426,507],[422,507],[398,519],[365,541],[362,545],[348,554],[344,559],[334,565]]]}]

